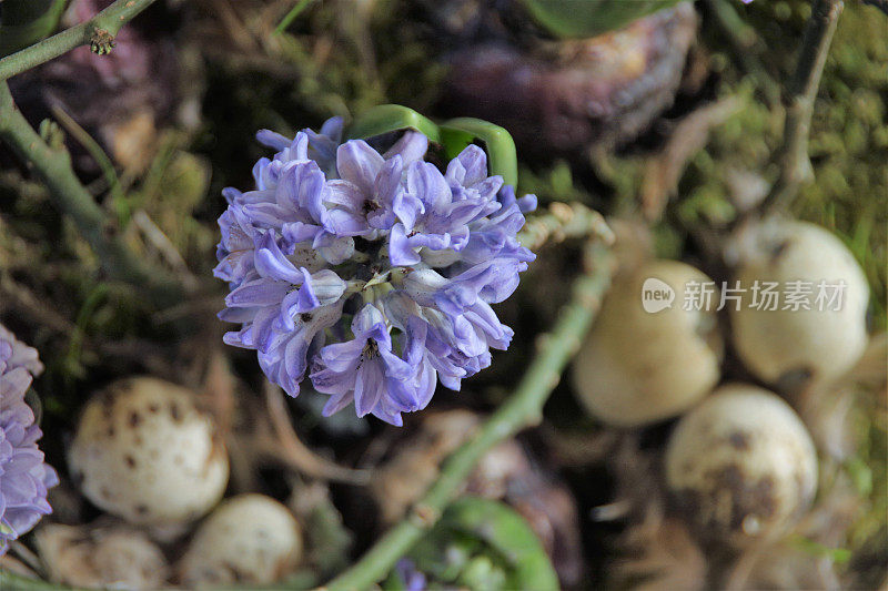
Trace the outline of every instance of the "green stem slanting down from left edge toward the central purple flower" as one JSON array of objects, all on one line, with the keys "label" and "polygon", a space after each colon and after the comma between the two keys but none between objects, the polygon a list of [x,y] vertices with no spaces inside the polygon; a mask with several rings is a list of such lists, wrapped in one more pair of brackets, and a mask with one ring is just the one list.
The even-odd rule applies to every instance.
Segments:
[{"label": "green stem slanting down from left edge toward the central purple flower", "polygon": [[180,299],[183,288],[167,273],[149,266],[115,234],[104,211],[80,183],[64,149],[53,150],[16,109],[9,85],[0,81],[0,140],[28,162],[50,191],[56,206],[70,216],[99,255],[108,273],[143,286],[159,305]]}]

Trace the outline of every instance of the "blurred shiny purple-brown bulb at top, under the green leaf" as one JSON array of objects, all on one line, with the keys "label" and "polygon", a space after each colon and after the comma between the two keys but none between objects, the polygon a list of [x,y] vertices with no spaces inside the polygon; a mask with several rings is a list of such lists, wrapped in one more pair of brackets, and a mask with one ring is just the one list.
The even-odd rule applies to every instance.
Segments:
[{"label": "blurred shiny purple-brown bulb at top, under the green leaf", "polygon": [[506,128],[529,153],[619,145],[672,105],[696,31],[684,2],[592,39],[545,41],[539,51],[471,47],[451,58],[441,108]]}]

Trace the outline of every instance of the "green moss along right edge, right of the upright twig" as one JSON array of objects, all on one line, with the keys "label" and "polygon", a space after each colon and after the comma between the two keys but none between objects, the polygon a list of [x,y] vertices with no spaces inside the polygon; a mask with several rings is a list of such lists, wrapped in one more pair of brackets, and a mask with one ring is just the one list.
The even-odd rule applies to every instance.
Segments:
[{"label": "green moss along right edge, right of the upright twig", "polygon": [[816,180],[795,212],[833,230],[864,266],[874,325],[886,328],[888,230],[888,43],[885,17],[846,6],[811,122]]}]

